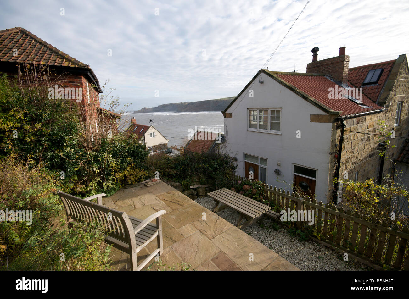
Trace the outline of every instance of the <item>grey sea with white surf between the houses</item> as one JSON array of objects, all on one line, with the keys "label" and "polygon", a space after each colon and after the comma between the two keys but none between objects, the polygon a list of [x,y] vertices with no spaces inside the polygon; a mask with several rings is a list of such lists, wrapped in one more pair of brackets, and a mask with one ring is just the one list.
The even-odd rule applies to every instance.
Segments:
[{"label": "grey sea with white surf between the houses", "polygon": [[189,140],[188,135],[191,136],[191,132],[196,132],[196,129],[212,129],[224,133],[223,115],[220,111],[126,113],[121,117],[122,127],[128,126],[126,123],[130,123],[131,117],[141,125],[153,125],[169,139],[169,147],[185,145]]}]

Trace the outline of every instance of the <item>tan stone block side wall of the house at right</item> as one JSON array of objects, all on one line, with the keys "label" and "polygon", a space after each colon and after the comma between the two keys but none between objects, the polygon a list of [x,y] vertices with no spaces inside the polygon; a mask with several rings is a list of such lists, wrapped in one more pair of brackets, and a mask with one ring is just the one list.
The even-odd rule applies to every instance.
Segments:
[{"label": "tan stone block side wall of the house at right", "polygon": [[[388,138],[390,141],[387,154],[384,159],[383,176],[393,172],[393,160],[397,158],[400,147],[403,144],[403,138],[409,133],[409,118],[408,118],[408,104],[409,104],[409,74],[406,56],[400,67],[396,70],[395,83],[391,85],[389,95],[384,96],[384,103],[387,111],[350,118],[346,120],[346,127],[344,129],[344,143],[342,145],[341,166],[339,174],[342,176],[343,172],[348,172],[348,179],[355,179],[355,172],[358,172],[358,181],[365,181],[368,178],[378,179],[380,170],[380,156],[379,142],[384,141],[384,138],[379,139],[381,125],[378,125],[380,120],[385,121],[387,125],[386,132],[395,131],[395,136],[398,138]],[[390,76],[394,74],[391,73]],[[402,111],[400,116],[399,126],[394,127],[396,109],[398,102],[402,101]],[[341,122],[334,123],[340,125]],[[341,129],[336,130],[333,134],[331,142],[332,148],[335,143],[339,144]],[[392,147],[395,145],[395,147]],[[332,174],[335,174],[336,159],[332,158]],[[330,172],[331,173],[331,172]],[[332,196],[332,182],[328,185],[328,199]]]}]

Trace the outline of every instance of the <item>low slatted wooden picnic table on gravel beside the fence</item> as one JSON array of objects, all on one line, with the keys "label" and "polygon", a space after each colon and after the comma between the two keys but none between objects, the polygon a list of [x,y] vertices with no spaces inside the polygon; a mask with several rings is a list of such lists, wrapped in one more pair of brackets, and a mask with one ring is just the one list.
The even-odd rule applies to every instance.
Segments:
[{"label": "low slatted wooden picnic table on gravel beside the fence", "polygon": [[[268,205],[259,203],[254,199],[250,199],[244,195],[238,194],[226,188],[210,192],[207,195],[211,196],[216,202],[216,205],[213,209],[214,213],[221,211],[227,207],[230,207],[240,213],[240,217],[237,223],[237,227],[240,229],[243,229],[246,226],[256,222],[263,216],[265,212],[271,209]],[[219,203],[223,203],[223,205],[219,206]],[[245,222],[243,225],[240,225],[243,217],[245,217],[247,222]]]}]

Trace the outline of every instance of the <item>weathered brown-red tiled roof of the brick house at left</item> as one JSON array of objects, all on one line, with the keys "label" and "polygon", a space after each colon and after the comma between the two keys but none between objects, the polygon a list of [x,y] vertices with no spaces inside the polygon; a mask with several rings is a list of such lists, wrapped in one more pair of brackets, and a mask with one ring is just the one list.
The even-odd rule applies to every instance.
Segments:
[{"label": "weathered brown-red tiled roof of the brick house at left", "polygon": [[[17,56],[13,49],[17,49]],[[34,64],[47,64],[56,67],[73,67],[88,69],[95,80],[99,91],[99,81],[89,65],[72,58],[63,51],[58,50],[33,33],[21,27],[14,27],[0,31],[0,61],[3,62],[29,62]]]}]

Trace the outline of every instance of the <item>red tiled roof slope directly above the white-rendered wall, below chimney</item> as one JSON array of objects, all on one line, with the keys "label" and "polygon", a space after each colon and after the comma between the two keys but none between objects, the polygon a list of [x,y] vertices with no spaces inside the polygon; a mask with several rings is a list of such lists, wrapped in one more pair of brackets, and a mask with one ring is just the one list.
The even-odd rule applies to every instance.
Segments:
[{"label": "red tiled roof slope directly above the white-rendered wall, below chimney", "polygon": [[[266,70],[264,70],[266,71]],[[314,98],[319,103],[328,107],[333,111],[342,111],[340,116],[347,116],[368,112],[378,109],[384,109],[381,106],[375,105],[369,98],[362,95],[362,104],[369,106],[369,108],[362,108],[360,105],[354,103],[347,98],[330,99],[328,89],[334,88],[336,83],[326,78],[325,76],[306,74],[306,73],[288,73],[288,72],[273,72],[267,71],[273,77],[279,78],[284,83],[290,84],[296,89],[302,91],[308,96]],[[340,88],[341,86],[338,86]]]}]

